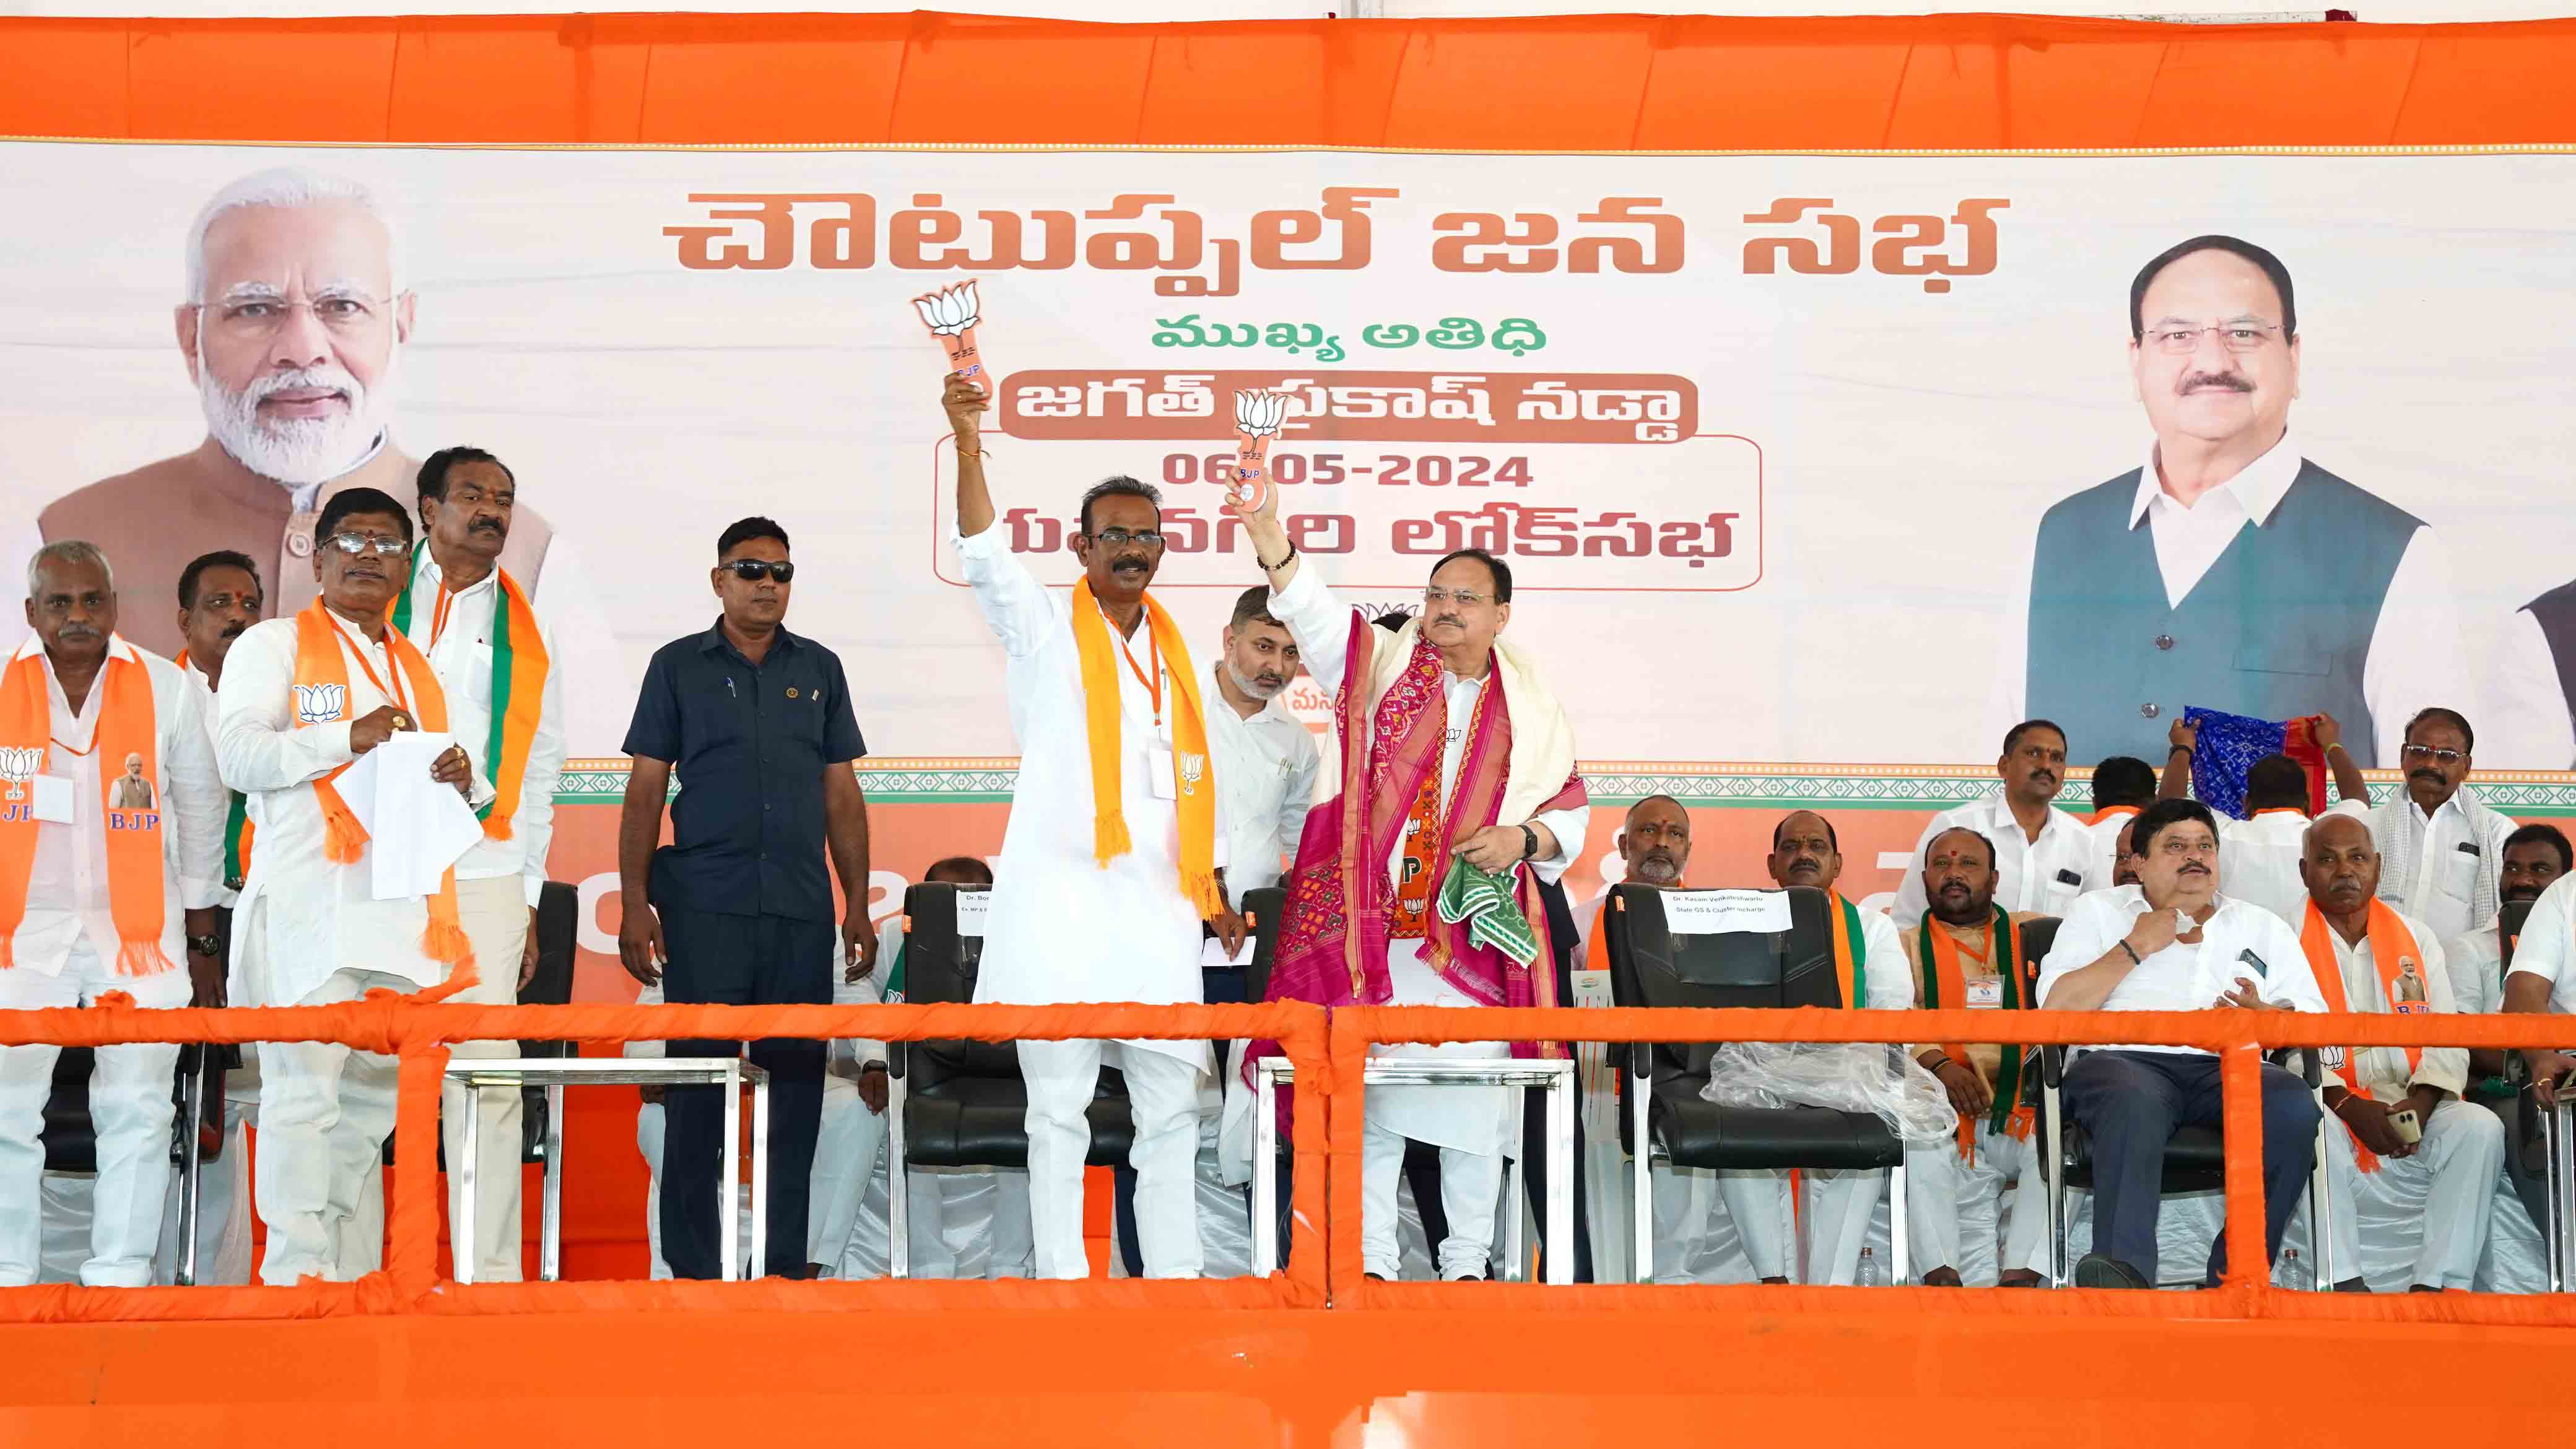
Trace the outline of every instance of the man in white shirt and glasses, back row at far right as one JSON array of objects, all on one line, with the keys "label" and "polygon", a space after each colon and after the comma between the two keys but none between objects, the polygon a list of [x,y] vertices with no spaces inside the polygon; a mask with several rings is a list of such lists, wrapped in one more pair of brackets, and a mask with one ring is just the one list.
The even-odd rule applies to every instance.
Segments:
[{"label": "man in white shirt and glasses, back row at far right", "polygon": [[2468,771],[2476,768],[2476,730],[2458,709],[2432,706],[2406,722],[2398,755],[2406,789],[2378,807],[2344,799],[2334,810],[2360,815],[2383,856],[2383,897],[2450,941],[2478,920],[2494,920],[2501,902],[2504,838],[2514,820],[2488,810]]}]

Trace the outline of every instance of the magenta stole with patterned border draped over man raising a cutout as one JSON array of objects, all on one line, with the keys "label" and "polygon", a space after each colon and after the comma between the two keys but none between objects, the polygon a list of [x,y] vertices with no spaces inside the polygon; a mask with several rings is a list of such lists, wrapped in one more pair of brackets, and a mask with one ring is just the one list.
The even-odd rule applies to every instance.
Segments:
[{"label": "magenta stole with patterned border draped over man raising a cutout", "polygon": [[[1383,1006],[1394,995],[1386,975],[1386,931],[1394,918],[1394,879],[1386,861],[1396,853],[1422,776],[1440,768],[1448,743],[1448,701],[1440,691],[1440,650],[1414,639],[1404,673],[1386,688],[1376,717],[1368,717],[1370,663],[1394,634],[1368,619],[1350,619],[1350,657],[1342,691],[1334,699],[1334,730],[1342,740],[1342,792],[1306,815],[1296,869],[1288,871],[1288,905],[1280,915],[1278,946],[1270,957],[1265,1000],[1311,1000],[1316,1006]],[[1476,732],[1458,766],[1450,797],[1448,835],[1432,861],[1448,861],[1461,835],[1494,825],[1512,758],[1512,701],[1502,691],[1502,670],[1492,676],[1494,699],[1479,712]],[[1582,776],[1546,802],[1546,810],[1587,804]],[[1435,866],[1440,869],[1440,866]],[[1538,964],[1520,967],[1492,946],[1473,946],[1468,933],[1440,913],[1430,913],[1432,967],[1481,1006],[1556,1006],[1556,951],[1548,941],[1548,913],[1538,900],[1538,877],[1517,869],[1520,908],[1538,931]],[[1435,890],[1437,895],[1437,890]],[[1275,1055],[1278,1044],[1257,1042],[1249,1057]],[[1556,1042],[1515,1042],[1515,1057],[1561,1055]],[[1283,1098],[1285,1106],[1285,1098]]]}]

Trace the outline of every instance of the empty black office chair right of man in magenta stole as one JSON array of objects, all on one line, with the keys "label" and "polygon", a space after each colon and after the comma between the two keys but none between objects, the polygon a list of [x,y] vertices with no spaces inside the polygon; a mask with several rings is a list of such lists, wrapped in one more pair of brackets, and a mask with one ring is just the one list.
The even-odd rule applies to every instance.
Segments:
[{"label": "empty black office chair right of man in magenta stole", "polygon": [[[1790,887],[1788,931],[1682,936],[1664,920],[1664,895],[1623,884],[1602,902],[1610,931],[1610,995],[1618,1006],[1842,1006],[1834,980],[1834,902]],[[1857,941],[1855,941],[1857,946]],[[1631,1276],[1654,1276],[1651,1158],[1682,1168],[1857,1168],[1888,1171],[1888,1227],[1896,1276],[1906,1276],[1906,1145],[1880,1116],[1824,1106],[1718,1106],[1700,1096],[1716,1042],[1613,1044],[1628,1111],[1620,1140],[1636,1171],[1636,1250]],[[1891,1060],[1901,1055],[1888,1047]]]}]

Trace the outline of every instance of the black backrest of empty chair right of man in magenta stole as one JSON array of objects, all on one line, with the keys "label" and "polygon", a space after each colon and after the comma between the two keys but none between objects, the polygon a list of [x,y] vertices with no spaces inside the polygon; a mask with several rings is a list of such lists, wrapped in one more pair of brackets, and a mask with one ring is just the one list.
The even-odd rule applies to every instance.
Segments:
[{"label": "black backrest of empty chair right of man in magenta stole", "polygon": [[[1672,931],[1662,890],[1623,884],[1602,902],[1610,931],[1610,995],[1618,1006],[1842,1006],[1834,980],[1832,897],[1790,887],[1788,931]],[[1852,944],[1860,946],[1857,941]],[[1708,1075],[1710,1042],[1659,1042],[1656,1075]]]}]

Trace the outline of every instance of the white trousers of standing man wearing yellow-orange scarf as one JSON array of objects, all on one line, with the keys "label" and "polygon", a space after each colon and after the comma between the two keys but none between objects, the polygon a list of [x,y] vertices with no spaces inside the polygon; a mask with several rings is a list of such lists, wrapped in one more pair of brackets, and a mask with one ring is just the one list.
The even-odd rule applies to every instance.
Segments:
[{"label": "white trousers of standing man wearing yellow-orange scarf", "polygon": [[[1200,1047],[1206,1049],[1206,1047]],[[1092,1150],[1084,1109],[1103,1062],[1126,1073],[1136,1109],[1136,1238],[1144,1276],[1195,1279],[1198,1245],[1198,1080],[1195,1062],[1123,1042],[1020,1042],[1028,1083],[1028,1227],[1041,1279],[1082,1279],[1082,1160]]]}]

